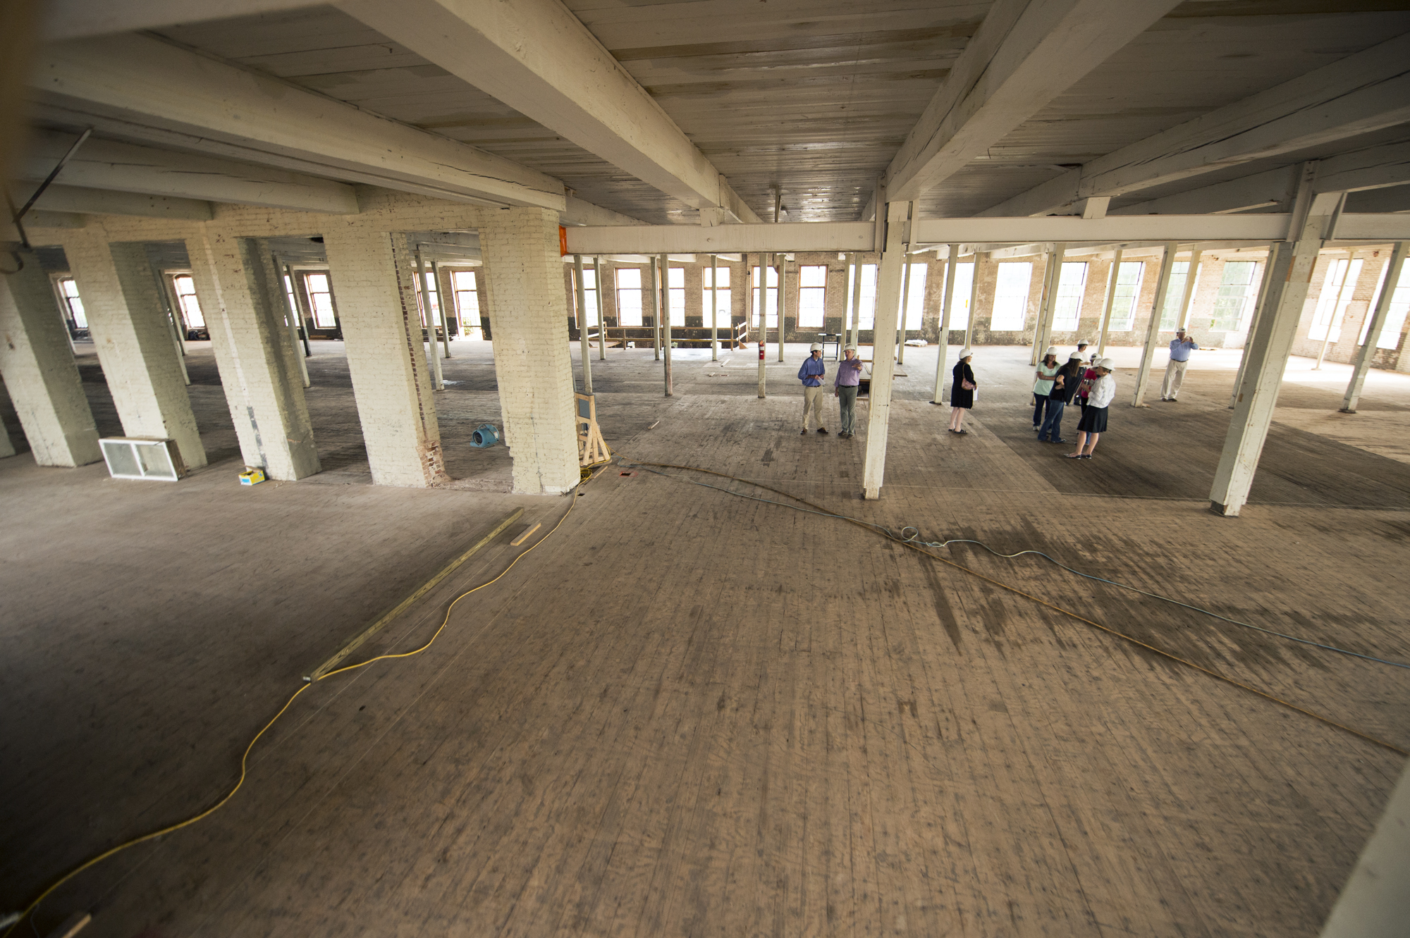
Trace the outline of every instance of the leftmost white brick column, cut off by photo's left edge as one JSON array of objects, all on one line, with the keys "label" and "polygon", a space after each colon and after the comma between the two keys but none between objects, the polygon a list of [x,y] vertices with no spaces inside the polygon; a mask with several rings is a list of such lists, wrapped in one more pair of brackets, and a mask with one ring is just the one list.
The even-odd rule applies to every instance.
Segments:
[{"label": "leftmost white brick column, cut off by photo's left edge", "polygon": [[[39,259],[0,284],[0,376],[41,466],[82,466],[103,458],[73,351]],[[168,346],[171,342],[168,342]],[[6,434],[4,444],[8,444]],[[8,449],[8,452],[4,452]],[[14,455],[4,445],[3,455]]]}]

